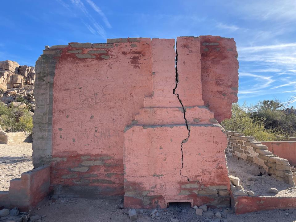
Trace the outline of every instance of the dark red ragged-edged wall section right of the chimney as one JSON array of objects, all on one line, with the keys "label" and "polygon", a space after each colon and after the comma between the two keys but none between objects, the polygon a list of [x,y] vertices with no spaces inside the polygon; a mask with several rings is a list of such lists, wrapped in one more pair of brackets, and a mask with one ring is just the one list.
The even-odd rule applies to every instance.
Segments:
[{"label": "dark red ragged-edged wall section right of the chimney", "polygon": [[231,105],[237,102],[238,60],[235,42],[212,35],[199,38],[204,104],[221,122],[231,118]]}]

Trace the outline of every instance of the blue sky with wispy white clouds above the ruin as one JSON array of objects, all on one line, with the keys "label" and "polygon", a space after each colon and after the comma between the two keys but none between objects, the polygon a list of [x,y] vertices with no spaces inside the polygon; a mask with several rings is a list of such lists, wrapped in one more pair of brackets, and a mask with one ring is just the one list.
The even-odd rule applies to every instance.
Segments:
[{"label": "blue sky with wispy white clouds above the ruin", "polygon": [[69,42],[220,35],[236,41],[240,104],[296,95],[295,0],[10,0],[1,8],[0,61],[34,66],[45,45]]}]

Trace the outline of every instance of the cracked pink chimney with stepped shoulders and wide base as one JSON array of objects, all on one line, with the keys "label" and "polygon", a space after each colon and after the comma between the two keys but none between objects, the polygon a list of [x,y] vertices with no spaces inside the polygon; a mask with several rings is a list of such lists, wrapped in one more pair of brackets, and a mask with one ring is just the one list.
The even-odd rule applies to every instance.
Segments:
[{"label": "cracked pink chimney with stepped shoulders and wide base", "polygon": [[[153,43],[154,39],[152,55],[158,51],[158,45]],[[158,60],[171,60],[172,64],[173,58],[166,57],[171,51],[169,40],[162,40],[162,44],[167,47],[162,48],[164,59]],[[134,125],[125,130],[125,207],[165,208],[170,202],[215,207],[230,204],[229,195],[220,195],[230,190],[224,153],[227,138],[223,129],[213,124],[217,124],[214,113],[202,100],[199,48],[197,37],[177,39],[178,82],[176,86],[170,84],[167,91],[175,89],[179,107],[174,107],[175,102],[166,104],[162,96],[154,93],[150,100],[158,103],[140,109]],[[153,73],[158,66],[152,64]],[[159,75],[158,81],[153,81],[155,91],[176,73],[171,69]],[[174,96],[171,93],[170,101],[178,99]]]}]

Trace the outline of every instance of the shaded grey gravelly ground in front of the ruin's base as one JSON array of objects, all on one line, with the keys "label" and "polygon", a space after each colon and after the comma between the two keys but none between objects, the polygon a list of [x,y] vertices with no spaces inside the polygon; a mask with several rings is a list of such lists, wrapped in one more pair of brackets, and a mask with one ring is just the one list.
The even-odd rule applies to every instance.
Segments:
[{"label": "shaded grey gravelly ground in front of the ruin's base", "polygon": [[[64,199],[59,198],[54,203],[46,201],[31,212],[32,215],[43,216],[42,222],[129,222],[128,209],[117,209],[118,200],[106,199]],[[211,209],[215,212],[223,212],[223,209]],[[147,221],[171,221],[171,218],[180,219],[180,222],[211,222],[220,221],[216,216],[204,217],[195,214],[195,210],[188,203],[170,204],[167,209],[158,209],[160,219],[149,216],[151,210],[140,213],[137,209],[138,222]],[[292,222],[296,221],[296,209],[294,210],[271,210],[235,215],[231,213],[222,214],[221,221],[228,222]]]}]

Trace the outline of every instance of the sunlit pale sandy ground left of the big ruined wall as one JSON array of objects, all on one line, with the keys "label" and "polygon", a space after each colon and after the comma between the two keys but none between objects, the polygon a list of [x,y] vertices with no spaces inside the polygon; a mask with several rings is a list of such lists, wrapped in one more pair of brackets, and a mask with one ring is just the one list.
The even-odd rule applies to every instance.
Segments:
[{"label": "sunlit pale sandy ground left of the big ruined wall", "polygon": [[0,191],[8,191],[11,179],[31,169],[32,143],[0,144]]}]

